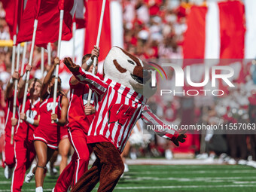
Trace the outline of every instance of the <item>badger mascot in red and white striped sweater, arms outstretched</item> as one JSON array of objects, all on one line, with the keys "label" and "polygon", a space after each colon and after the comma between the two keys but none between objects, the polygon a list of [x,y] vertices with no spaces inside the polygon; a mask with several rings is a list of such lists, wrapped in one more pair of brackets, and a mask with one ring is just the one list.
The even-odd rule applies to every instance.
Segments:
[{"label": "badger mascot in red and white striped sweater, arms outstretched", "polygon": [[[147,123],[163,125],[152,114],[143,96],[143,88],[149,84],[151,75],[145,70],[142,60],[119,47],[112,47],[105,58],[104,81],[85,72],[70,58],[65,58],[64,63],[75,78],[89,84],[96,95],[96,113],[87,137],[87,143],[96,154],[96,161],[72,191],[91,191],[98,182],[98,191],[112,191],[123,173],[120,153],[136,121],[142,118]],[[175,145],[184,142],[186,137],[175,134],[174,130],[156,132]]]}]

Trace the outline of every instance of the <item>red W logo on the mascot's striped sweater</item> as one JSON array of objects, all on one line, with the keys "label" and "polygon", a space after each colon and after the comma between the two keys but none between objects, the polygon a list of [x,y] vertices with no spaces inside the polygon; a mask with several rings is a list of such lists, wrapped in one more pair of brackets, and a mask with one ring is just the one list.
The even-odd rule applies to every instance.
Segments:
[{"label": "red W logo on the mascot's striped sweater", "polygon": [[135,111],[136,108],[129,105],[114,104],[108,111],[108,124],[117,122],[123,126],[127,120],[130,120]]}]

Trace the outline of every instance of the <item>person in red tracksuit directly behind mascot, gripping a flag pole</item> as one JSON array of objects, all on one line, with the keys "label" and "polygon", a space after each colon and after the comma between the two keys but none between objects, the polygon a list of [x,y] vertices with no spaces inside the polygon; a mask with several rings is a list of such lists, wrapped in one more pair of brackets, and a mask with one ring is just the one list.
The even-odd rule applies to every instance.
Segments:
[{"label": "person in red tracksuit directly behind mascot, gripping a flag pole", "polygon": [[[92,64],[95,56],[99,56],[99,49],[97,47],[94,47],[91,54],[83,57],[81,67],[85,71],[93,72]],[[97,66],[95,72],[97,72]],[[84,172],[88,169],[91,153],[91,148],[87,147],[87,133],[94,118],[94,96],[92,96],[90,105],[88,106],[89,86],[79,83],[74,76],[70,78],[69,85],[69,123],[67,126],[69,127],[69,140],[75,149],[75,153],[72,156],[72,161],[64,169],[62,174],[59,175],[55,188],[53,189],[55,192],[67,191],[71,184],[72,187],[76,184],[78,179],[81,178],[81,175],[84,175]]]}]

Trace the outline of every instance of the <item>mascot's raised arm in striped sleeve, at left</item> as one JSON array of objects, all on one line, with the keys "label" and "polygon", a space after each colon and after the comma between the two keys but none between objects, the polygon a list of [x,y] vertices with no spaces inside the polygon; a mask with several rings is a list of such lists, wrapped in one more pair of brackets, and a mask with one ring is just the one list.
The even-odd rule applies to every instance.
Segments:
[{"label": "mascot's raised arm in striped sleeve, at left", "polygon": [[65,58],[64,64],[80,83],[89,84],[90,88],[96,91],[99,95],[104,94],[108,89],[108,84],[100,80],[96,75],[93,75],[90,72],[85,72],[84,69],[81,69],[80,66],[72,62],[71,58]]}]

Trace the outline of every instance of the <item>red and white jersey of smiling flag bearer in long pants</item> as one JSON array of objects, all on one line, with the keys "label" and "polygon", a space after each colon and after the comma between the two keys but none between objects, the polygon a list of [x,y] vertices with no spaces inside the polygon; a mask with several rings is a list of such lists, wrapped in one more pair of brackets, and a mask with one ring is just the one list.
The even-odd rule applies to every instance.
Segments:
[{"label": "red and white jersey of smiling flag bearer in long pants", "polygon": [[[29,93],[26,97],[25,104],[25,114],[26,117],[32,118],[34,120],[38,119],[38,109],[40,106],[40,98],[38,98],[33,104],[31,102]],[[22,107],[20,107],[21,110]],[[20,121],[20,120],[19,120]],[[35,131],[36,126],[27,123],[26,120],[23,120],[23,123],[19,123],[17,126],[17,132],[15,134],[15,140],[26,139],[29,141],[33,140],[33,133]]]}]

